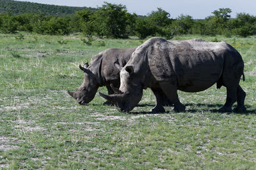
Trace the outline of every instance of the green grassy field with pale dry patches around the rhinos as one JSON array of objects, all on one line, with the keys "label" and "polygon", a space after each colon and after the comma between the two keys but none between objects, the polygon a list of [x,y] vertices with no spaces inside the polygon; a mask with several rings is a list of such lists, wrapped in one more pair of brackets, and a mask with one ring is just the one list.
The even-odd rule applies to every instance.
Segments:
[{"label": "green grassy field with pale dry patches around the rhinos", "polygon": [[[0,169],[256,169],[256,38],[181,36],[226,41],[244,59],[245,113],[218,113],[226,90],[179,92],[186,112],[151,114],[154,96],[130,113],[87,106],[68,96],[83,82],[79,64],[138,39],[0,34]],[[99,89],[106,92],[106,88]],[[236,105],[236,104],[235,104]]]}]

